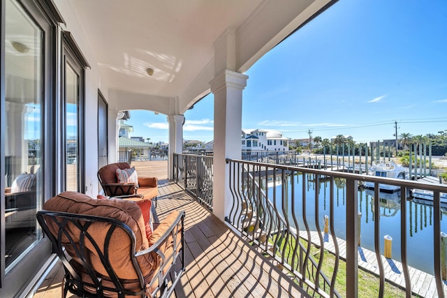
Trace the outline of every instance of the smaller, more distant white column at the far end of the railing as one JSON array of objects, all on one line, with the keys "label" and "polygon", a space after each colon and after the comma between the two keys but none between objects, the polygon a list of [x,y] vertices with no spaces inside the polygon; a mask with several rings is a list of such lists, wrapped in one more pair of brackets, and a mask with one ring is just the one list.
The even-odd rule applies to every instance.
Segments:
[{"label": "smaller, more distant white column at the far end of the railing", "polygon": [[169,124],[169,161],[168,161],[168,177],[174,179],[173,161],[174,154],[181,154],[183,151],[183,115],[170,115]]}]

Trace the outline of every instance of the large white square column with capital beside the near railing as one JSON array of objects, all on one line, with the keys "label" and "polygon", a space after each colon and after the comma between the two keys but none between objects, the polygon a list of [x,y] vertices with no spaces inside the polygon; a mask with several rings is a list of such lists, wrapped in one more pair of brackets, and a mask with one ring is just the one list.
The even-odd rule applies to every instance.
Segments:
[{"label": "large white square column with capital beside the near railing", "polygon": [[233,198],[226,158],[241,158],[242,90],[247,75],[223,70],[210,82],[214,94],[213,213],[224,221]]}]

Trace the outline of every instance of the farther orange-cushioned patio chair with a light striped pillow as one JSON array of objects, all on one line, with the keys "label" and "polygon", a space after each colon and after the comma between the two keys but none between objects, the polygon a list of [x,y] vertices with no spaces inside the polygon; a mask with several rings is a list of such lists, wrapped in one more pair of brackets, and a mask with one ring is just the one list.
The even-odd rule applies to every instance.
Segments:
[{"label": "farther orange-cushioned patio chair with a light striped pillow", "polygon": [[110,163],[98,170],[98,180],[105,195],[110,198],[153,199],[156,204],[156,197],[159,195],[158,179],[156,177],[138,177],[138,181],[120,183],[117,171],[126,169],[131,169],[129,163]]}]

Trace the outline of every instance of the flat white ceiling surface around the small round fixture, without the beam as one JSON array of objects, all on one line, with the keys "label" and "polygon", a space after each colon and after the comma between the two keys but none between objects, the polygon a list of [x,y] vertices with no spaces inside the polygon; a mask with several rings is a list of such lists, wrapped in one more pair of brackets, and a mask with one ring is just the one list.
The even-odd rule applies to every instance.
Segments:
[{"label": "flat white ceiling surface around the small round fixture, without the beam", "polygon": [[[240,27],[260,2],[73,0],[71,5],[115,89],[172,97],[212,61],[221,33]],[[147,68],[154,68],[152,77]]]}]

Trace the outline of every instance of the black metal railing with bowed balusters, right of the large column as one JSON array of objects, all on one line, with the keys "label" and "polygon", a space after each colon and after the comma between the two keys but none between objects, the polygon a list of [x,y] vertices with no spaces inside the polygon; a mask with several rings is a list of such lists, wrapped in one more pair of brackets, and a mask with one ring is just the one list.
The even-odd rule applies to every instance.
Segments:
[{"label": "black metal railing with bowed balusters, right of the large column", "polygon": [[[399,187],[396,204],[400,205],[400,226],[396,226],[395,230],[400,232],[399,253],[404,283],[397,288],[403,288],[401,291],[409,297],[416,280],[410,275],[408,252],[419,249],[407,247],[406,234],[411,225],[406,213],[409,190],[420,188],[432,191],[432,283],[436,284],[433,290],[437,291],[438,297],[444,297],[445,286],[441,276],[441,211],[444,209],[441,210],[440,194],[447,193],[447,186],[231,159],[227,159],[227,163],[230,167],[230,190],[233,193],[228,224],[240,232],[249,244],[268,255],[272,262],[284,267],[309,294],[321,297],[358,296],[358,258],[361,248],[358,195],[365,181],[374,183],[374,198],[381,198],[379,186],[382,184]],[[298,179],[301,179],[299,184],[295,182]],[[309,183],[312,186],[309,187]],[[336,195],[340,185],[343,186],[343,204],[339,203]],[[328,193],[323,194],[323,191]],[[381,200],[372,201],[369,202],[375,210],[372,212],[372,251],[375,253],[376,267],[379,268],[379,297],[383,297],[385,283],[389,282],[383,264],[383,260],[388,259],[383,259],[381,253],[380,210],[383,207]],[[321,206],[325,206],[325,211],[321,210]],[[339,206],[342,206],[342,213],[345,214],[338,223],[342,227],[335,224],[335,209],[340,212]],[[323,214],[328,215],[321,225]],[[330,242],[333,244],[330,251],[335,255],[335,260],[330,269],[323,269],[323,264],[328,262],[325,252]],[[346,265],[346,285],[337,279],[341,262]]]}]

